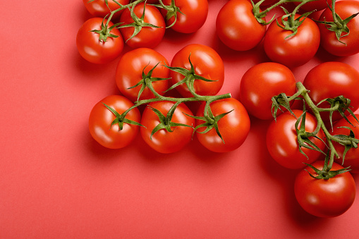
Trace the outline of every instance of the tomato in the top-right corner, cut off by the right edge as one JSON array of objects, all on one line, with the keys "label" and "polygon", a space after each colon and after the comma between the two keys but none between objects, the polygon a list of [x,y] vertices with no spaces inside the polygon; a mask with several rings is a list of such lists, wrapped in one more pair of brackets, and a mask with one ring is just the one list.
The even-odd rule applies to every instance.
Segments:
[{"label": "tomato in the top-right corner, cut off by the right edge", "polygon": [[[335,11],[342,20],[359,12],[359,1],[338,1],[335,4]],[[332,22],[333,15],[329,8],[325,9],[320,16],[321,21]],[[359,52],[359,18],[355,17],[349,21],[347,27],[349,28],[349,35],[341,37],[341,43],[336,39],[335,32],[327,30],[327,25],[318,24],[321,36],[321,46],[330,54],[335,56],[351,56]],[[341,35],[345,35],[343,32]]]}]

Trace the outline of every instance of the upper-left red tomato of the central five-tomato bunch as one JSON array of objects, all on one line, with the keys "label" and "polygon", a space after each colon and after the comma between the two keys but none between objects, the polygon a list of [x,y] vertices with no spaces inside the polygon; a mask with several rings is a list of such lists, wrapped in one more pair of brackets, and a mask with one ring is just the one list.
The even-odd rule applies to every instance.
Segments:
[{"label": "upper-left red tomato of the central five-tomato bunch", "polygon": [[[158,64],[158,66],[156,66]],[[149,48],[138,48],[128,51],[123,54],[116,68],[116,84],[120,92],[130,99],[132,102],[138,100],[138,94],[140,89],[146,84],[138,85],[137,87],[131,88],[138,84],[142,80],[142,71],[145,68],[145,75],[148,74],[154,66],[152,71],[152,78],[169,78],[169,69],[164,65],[169,65],[169,62],[159,54],[157,51]],[[169,88],[169,80],[159,80],[152,82],[154,90],[163,95],[164,91]],[[152,91],[145,87],[141,93],[140,99],[151,99],[154,98]]]}]

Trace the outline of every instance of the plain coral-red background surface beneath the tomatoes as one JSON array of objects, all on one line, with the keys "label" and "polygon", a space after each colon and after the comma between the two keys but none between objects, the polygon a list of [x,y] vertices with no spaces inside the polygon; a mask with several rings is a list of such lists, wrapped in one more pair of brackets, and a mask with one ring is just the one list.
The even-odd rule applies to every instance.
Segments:
[{"label": "plain coral-red background surface beneath the tomatoes", "polygon": [[[156,50],[171,61],[186,44],[213,47],[225,63],[220,93],[238,98],[243,73],[268,59],[262,46],[235,52],[219,42],[214,23],[225,2],[209,0],[200,31],[168,30]],[[357,238],[359,199],[333,219],[300,208],[296,171],[265,148],[269,121],[251,118],[243,146],[226,154],[196,139],[181,152],[159,154],[140,135],[126,149],[98,145],[88,116],[100,99],[119,94],[118,60],[97,66],[78,54],[75,36],[90,18],[83,2],[2,1],[0,11],[0,238]],[[359,71],[359,55],[320,49],[293,69],[296,79],[323,61]]]}]

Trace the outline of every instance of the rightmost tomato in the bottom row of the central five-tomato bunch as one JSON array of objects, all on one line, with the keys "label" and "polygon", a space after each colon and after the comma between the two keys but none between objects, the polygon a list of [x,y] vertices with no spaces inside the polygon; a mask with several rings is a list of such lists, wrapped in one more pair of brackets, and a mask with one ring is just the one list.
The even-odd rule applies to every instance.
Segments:
[{"label": "rightmost tomato in the bottom row of the central five-tomato bunch", "polygon": [[[234,98],[219,99],[210,104],[212,114],[220,114],[231,111],[218,121],[219,133],[224,140],[221,140],[214,128],[207,133],[199,133],[205,128],[198,128],[196,136],[200,143],[212,152],[230,152],[238,149],[248,136],[250,130],[250,118],[245,107],[241,102]],[[201,104],[197,111],[197,116],[203,116],[205,104]],[[196,124],[204,123],[202,120],[196,120]]]}]

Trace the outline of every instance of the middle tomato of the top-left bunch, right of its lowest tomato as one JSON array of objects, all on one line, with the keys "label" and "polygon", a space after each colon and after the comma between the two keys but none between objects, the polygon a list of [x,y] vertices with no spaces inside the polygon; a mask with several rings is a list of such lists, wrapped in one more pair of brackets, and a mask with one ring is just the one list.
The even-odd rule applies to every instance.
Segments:
[{"label": "middle tomato of the top-left bunch, right of its lowest tomato", "polygon": [[[154,48],[164,37],[166,23],[164,18],[159,10],[155,6],[148,4],[140,3],[133,7],[133,13],[135,13],[138,18],[141,18],[143,14],[143,8],[145,7],[145,16],[143,22],[150,23],[157,27],[144,26],[141,28],[135,37],[132,37],[135,27],[122,27],[120,28],[123,38],[126,40],[126,44],[132,48]],[[125,9],[121,14],[120,22],[121,26],[134,23],[135,21],[130,16],[130,9]],[[130,38],[132,37],[132,38]]]}]

